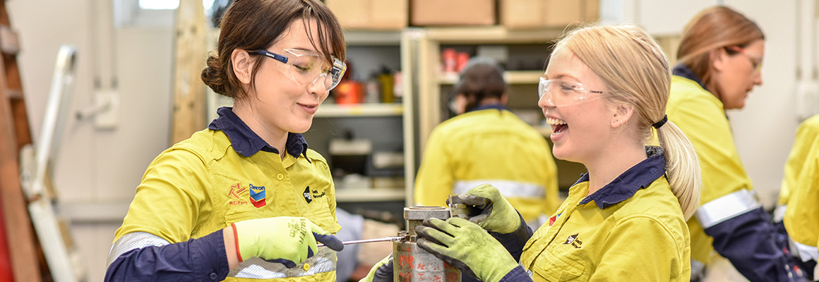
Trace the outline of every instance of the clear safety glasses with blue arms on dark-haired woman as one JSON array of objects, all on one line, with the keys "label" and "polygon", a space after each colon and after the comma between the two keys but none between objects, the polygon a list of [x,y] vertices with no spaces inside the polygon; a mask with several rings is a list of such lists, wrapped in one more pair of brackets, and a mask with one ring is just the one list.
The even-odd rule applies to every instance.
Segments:
[{"label": "clear safety glasses with blue arms on dark-haired woman", "polygon": [[330,91],[338,85],[347,70],[347,65],[336,57],[333,57],[333,65],[330,65],[324,60],[324,56],[316,53],[296,49],[284,49],[284,51],[287,52],[287,56],[266,50],[259,50],[256,53],[282,62],[282,65],[278,65],[278,69],[299,85],[321,82],[324,83],[327,91]]}]

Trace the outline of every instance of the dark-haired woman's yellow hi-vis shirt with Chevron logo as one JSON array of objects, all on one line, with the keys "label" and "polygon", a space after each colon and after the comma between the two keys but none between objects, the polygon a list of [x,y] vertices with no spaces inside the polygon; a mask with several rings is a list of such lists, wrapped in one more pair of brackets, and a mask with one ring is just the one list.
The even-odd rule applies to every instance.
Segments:
[{"label": "dark-haired woman's yellow hi-vis shirt with Chevron logo", "polygon": [[[245,157],[233,150],[223,131],[196,132],[162,152],[147,168],[114,241],[141,231],[177,243],[232,222],[262,217],[306,217],[324,231],[336,233],[341,226],[328,164],[314,150],[305,154],[297,159],[285,154],[280,159],[276,153],[259,151]],[[263,277],[285,277],[265,281],[334,281],[335,263],[336,254],[327,248],[319,248],[308,262],[293,269],[252,257],[231,270],[225,281]]]}]

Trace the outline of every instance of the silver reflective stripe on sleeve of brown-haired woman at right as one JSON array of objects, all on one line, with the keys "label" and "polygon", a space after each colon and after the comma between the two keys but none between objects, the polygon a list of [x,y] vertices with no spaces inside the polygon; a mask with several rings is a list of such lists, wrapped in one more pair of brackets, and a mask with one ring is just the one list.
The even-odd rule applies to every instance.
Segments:
[{"label": "silver reflective stripe on sleeve of brown-haired woman at right", "polygon": [[696,217],[699,225],[705,229],[759,207],[753,192],[739,190],[700,205]]}]

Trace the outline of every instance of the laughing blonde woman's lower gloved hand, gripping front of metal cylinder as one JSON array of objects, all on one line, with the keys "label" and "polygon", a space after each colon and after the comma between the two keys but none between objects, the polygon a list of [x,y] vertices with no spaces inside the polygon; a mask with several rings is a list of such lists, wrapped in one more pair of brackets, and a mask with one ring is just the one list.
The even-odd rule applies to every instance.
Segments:
[{"label": "laughing blonde woman's lower gloved hand, gripping front of metal cylinder", "polygon": [[429,218],[415,233],[419,247],[485,282],[499,281],[518,266],[492,235],[463,218]]}]

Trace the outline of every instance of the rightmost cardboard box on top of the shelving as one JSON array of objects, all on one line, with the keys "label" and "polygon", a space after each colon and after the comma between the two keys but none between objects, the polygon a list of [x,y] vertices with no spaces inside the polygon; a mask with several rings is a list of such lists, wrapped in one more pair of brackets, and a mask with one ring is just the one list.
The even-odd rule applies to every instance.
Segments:
[{"label": "rightmost cardboard box on top of the shelving", "polygon": [[510,29],[557,27],[595,22],[600,0],[499,0],[500,25]]}]

